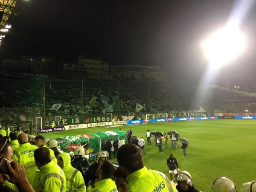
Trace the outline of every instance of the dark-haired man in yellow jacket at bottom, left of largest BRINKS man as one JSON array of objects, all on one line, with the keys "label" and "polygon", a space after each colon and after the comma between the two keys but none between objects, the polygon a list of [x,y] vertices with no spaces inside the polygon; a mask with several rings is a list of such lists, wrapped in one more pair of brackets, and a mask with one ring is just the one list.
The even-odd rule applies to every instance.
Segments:
[{"label": "dark-haired man in yellow jacket at bottom, left of largest BRINKS man", "polygon": [[116,184],[111,179],[115,167],[109,160],[103,161],[96,171],[97,179],[94,186],[89,186],[87,192],[117,192]]}]

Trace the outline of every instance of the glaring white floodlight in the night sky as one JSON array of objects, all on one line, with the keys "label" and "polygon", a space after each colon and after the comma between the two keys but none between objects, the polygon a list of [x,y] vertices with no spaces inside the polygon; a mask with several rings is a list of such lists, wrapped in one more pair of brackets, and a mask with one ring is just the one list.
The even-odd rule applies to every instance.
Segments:
[{"label": "glaring white floodlight in the night sky", "polygon": [[219,67],[233,60],[245,47],[244,35],[236,28],[226,26],[204,42],[210,64]]}]

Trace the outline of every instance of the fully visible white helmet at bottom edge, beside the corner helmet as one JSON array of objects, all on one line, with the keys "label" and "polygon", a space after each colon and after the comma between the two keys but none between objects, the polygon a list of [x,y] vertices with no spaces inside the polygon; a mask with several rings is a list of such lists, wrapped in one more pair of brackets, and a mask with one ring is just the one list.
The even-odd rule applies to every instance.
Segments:
[{"label": "fully visible white helmet at bottom edge, beside the corner helmet", "polygon": [[213,192],[237,192],[236,184],[228,177],[217,177],[212,183]]}]

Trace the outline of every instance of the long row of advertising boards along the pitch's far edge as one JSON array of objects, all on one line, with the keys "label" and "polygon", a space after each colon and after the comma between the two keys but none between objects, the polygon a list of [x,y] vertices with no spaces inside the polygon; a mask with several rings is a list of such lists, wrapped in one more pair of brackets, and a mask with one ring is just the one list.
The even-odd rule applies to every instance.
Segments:
[{"label": "long row of advertising boards along the pitch's far edge", "polygon": [[58,126],[55,128],[44,128],[40,129],[39,133],[48,133],[52,131],[64,131],[79,128],[91,128],[101,126],[116,126],[116,125],[138,125],[141,123],[154,123],[154,122],[172,122],[172,121],[192,121],[192,120],[212,120],[212,119],[256,119],[256,116],[201,116],[201,117],[175,117],[175,118],[161,118],[161,119],[137,119],[129,121],[115,121],[115,122],[96,122],[79,125],[66,125]]}]

